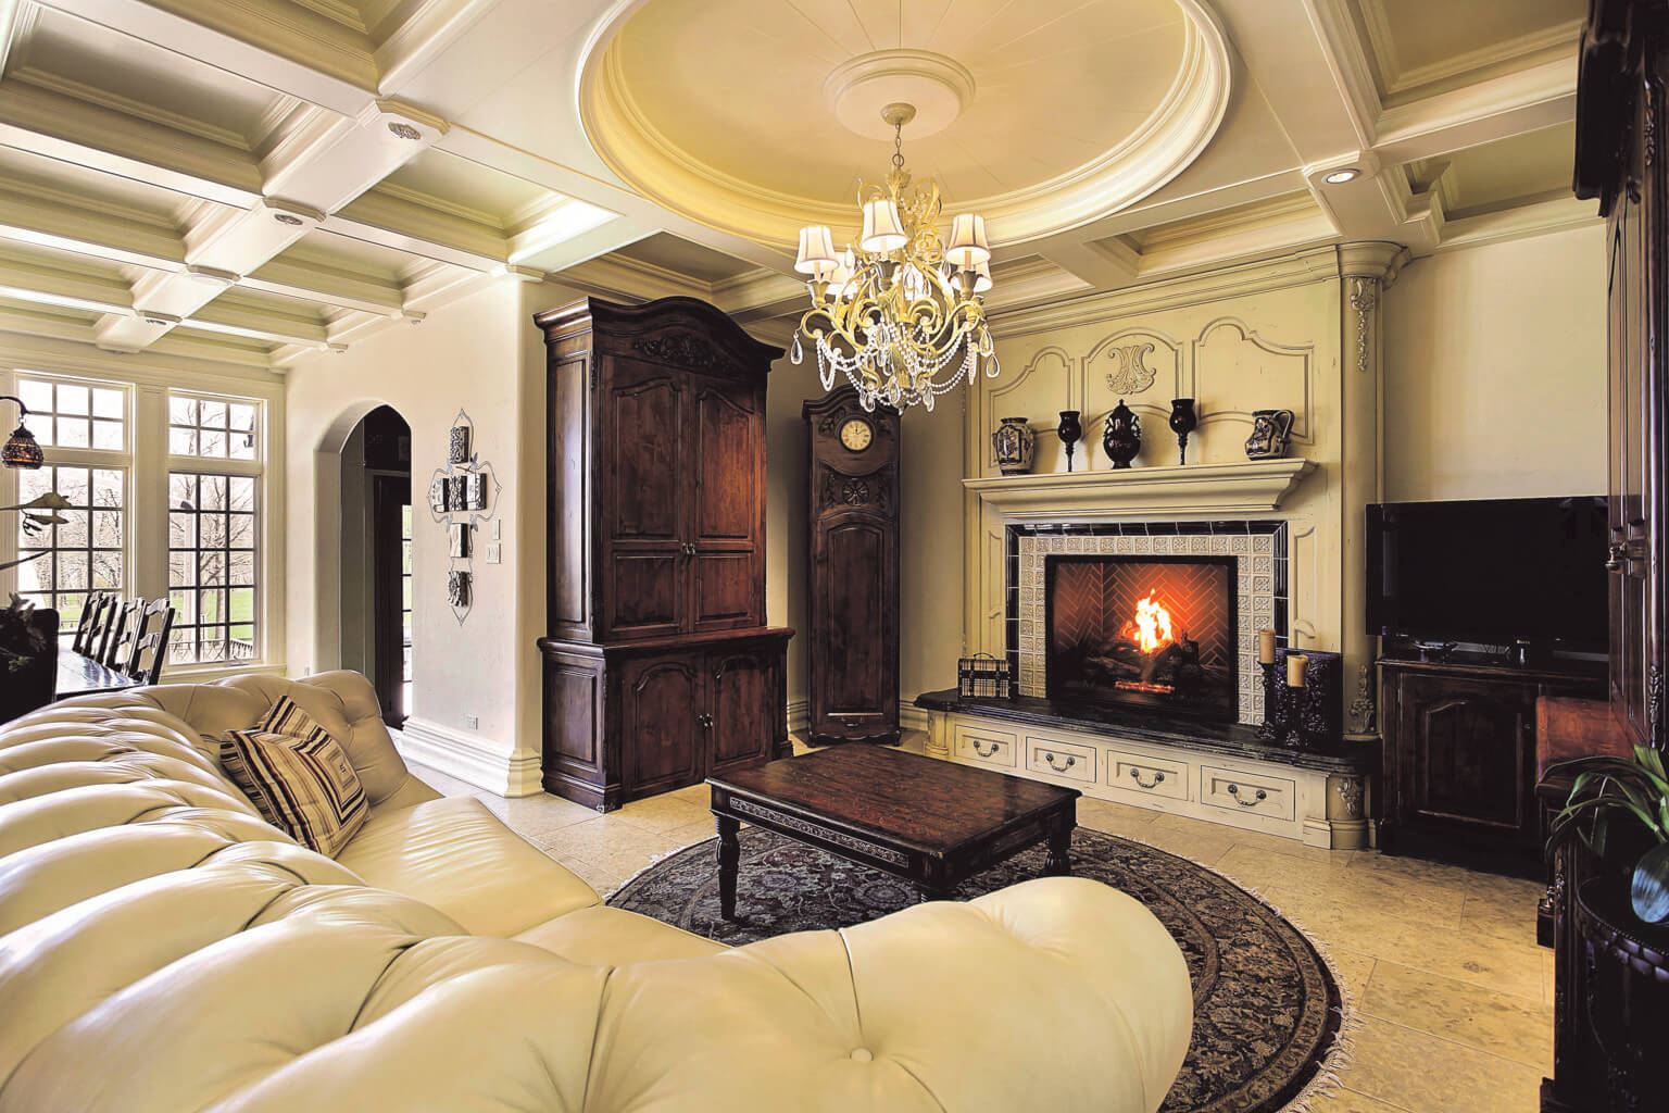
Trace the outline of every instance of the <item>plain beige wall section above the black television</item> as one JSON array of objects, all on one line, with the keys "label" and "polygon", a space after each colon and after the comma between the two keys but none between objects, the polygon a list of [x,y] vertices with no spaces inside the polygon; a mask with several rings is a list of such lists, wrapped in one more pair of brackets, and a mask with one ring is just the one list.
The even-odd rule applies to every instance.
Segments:
[{"label": "plain beige wall section above the black television", "polygon": [[1417,259],[1382,320],[1387,501],[1606,491],[1601,225]]}]

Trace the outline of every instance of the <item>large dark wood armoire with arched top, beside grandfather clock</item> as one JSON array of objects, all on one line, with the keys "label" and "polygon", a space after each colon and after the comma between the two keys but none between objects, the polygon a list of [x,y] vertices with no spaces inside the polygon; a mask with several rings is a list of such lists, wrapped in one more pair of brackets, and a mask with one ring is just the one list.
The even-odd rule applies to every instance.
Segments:
[{"label": "large dark wood armoire with arched top, beside grandfather clock", "polygon": [[781,349],[689,297],[546,337],[544,788],[609,811],[786,756],[764,624],[764,389]]}]

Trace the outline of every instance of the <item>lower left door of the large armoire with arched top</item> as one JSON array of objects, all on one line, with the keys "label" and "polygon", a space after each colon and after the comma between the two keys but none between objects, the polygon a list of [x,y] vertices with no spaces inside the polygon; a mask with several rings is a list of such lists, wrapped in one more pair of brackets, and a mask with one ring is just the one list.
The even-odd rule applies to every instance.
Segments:
[{"label": "lower left door of the large armoire with arched top", "polygon": [[708,686],[688,652],[621,662],[618,726],[624,753],[623,798],[649,796],[703,774]]}]

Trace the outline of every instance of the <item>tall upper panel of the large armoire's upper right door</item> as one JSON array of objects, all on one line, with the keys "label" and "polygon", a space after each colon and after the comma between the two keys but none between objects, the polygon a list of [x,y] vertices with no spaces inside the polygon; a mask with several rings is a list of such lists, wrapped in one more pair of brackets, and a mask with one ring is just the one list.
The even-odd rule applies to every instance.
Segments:
[{"label": "tall upper panel of the large armoire's upper right door", "polygon": [[756,419],[754,389],[741,382],[699,382],[694,387],[696,492],[691,541],[758,542],[763,486],[763,432]]}]

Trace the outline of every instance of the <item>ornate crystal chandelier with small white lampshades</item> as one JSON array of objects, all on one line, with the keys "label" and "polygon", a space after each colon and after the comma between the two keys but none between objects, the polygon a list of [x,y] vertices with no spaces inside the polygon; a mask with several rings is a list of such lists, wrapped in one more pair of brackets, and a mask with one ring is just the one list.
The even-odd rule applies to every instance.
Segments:
[{"label": "ornate crystal chandelier with small white lampshades", "polygon": [[[794,270],[811,275],[811,309],[799,319],[793,359],[801,362],[801,334],[818,349],[823,389],[840,372],[858,387],[866,410],[876,402],[893,409],[921,404],[966,379],[996,377],[998,362],[985,324],[985,292],[991,289],[991,247],[985,217],[965,214],[951,222],[950,244],[940,237],[940,187],[910,189],[905,170],[905,123],[916,110],[906,103],[881,112],[893,125],[893,169],[886,187],[858,182],[863,235],[858,250],[834,254],[821,225],[799,230]],[[950,367],[948,377],[941,377]]]}]

